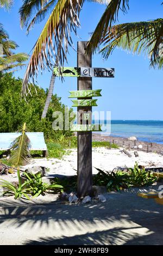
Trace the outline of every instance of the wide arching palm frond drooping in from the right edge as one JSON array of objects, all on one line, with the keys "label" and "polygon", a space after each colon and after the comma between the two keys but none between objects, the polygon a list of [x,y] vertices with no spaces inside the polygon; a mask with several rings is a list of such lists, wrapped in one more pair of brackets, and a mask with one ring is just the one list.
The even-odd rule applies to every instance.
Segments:
[{"label": "wide arching palm frond drooping in from the right edge", "polygon": [[151,65],[162,68],[159,46],[163,42],[163,19],[145,22],[123,23],[108,29],[101,37],[105,46],[101,52],[107,59],[115,47],[121,47],[133,53],[145,53]]}]

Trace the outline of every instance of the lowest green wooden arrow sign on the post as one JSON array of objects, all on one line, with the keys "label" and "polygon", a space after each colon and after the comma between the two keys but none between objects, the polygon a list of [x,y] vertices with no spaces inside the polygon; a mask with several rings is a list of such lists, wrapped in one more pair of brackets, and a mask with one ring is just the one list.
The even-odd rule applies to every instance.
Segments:
[{"label": "lowest green wooden arrow sign on the post", "polygon": [[74,124],[70,127],[71,131],[102,131],[101,125],[98,124]]}]

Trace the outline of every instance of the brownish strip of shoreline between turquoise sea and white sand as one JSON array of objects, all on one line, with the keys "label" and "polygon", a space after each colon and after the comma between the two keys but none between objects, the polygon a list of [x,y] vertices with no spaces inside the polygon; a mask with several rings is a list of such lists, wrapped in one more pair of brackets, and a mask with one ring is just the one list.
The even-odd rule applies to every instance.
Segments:
[{"label": "brownish strip of shoreline between turquoise sea and white sand", "polygon": [[[129,149],[134,149],[135,141],[131,141],[124,137],[114,137],[114,136],[103,136],[98,133],[92,133],[92,141],[108,141],[117,144],[119,147]],[[130,145],[129,145],[130,144]],[[142,149],[136,148],[137,151],[145,151],[149,153],[157,153],[163,155],[163,144],[158,144],[154,142],[144,142],[136,141],[136,146],[142,145]]]}]

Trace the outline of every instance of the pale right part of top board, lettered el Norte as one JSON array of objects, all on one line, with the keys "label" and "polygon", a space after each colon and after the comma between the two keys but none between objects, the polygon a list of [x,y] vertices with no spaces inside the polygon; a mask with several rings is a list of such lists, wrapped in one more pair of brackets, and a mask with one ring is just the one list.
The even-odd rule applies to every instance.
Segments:
[{"label": "pale right part of top board, lettered el Norte", "polygon": [[111,68],[80,68],[81,77],[114,77]]}]

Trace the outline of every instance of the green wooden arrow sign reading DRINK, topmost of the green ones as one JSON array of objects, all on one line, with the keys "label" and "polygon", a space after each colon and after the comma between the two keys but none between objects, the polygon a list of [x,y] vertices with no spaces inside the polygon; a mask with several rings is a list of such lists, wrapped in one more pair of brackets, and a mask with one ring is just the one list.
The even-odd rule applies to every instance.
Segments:
[{"label": "green wooden arrow sign reading DRINK, topmost of the green ones", "polygon": [[97,96],[102,96],[101,95],[101,89],[98,90],[72,90],[69,91],[70,96],[69,98],[82,98],[82,97],[97,97]]}]

